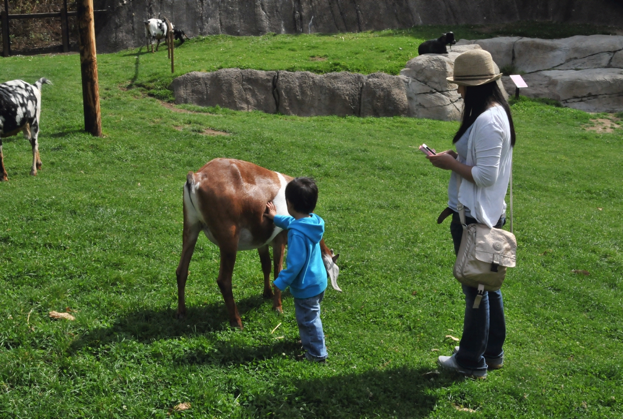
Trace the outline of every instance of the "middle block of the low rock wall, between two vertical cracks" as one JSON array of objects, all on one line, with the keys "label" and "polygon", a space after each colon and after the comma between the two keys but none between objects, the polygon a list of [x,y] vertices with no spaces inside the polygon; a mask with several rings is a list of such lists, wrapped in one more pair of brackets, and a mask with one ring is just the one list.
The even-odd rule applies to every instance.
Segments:
[{"label": "middle block of the low rock wall, between two vertical cracks", "polygon": [[277,74],[275,97],[284,115],[359,115],[359,94],[364,76],[340,72]]}]

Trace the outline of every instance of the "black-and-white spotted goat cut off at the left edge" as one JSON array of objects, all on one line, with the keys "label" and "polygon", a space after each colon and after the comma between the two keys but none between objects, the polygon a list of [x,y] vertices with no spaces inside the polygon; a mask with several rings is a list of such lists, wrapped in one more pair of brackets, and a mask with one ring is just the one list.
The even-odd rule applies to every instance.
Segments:
[{"label": "black-and-white spotted goat cut off at the left edge", "polygon": [[41,87],[44,83],[51,85],[47,78],[42,77],[34,85],[23,80],[11,80],[0,84],[0,181],[7,181],[2,154],[2,138],[10,137],[22,131],[24,138],[32,146],[31,175],[37,176],[41,169],[39,158],[39,115],[41,113]]}]

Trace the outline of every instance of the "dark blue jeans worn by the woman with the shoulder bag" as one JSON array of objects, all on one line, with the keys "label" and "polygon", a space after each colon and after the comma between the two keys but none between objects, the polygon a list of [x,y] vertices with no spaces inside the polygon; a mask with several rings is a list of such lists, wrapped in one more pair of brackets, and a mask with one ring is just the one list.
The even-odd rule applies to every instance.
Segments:
[{"label": "dark blue jeans worn by the woman with the shoulder bag", "polygon": [[[477,221],[472,217],[465,217],[465,224],[474,224]],[[500,217],[495,228],[502,228],[506,219]],[[454,253],[459,253],[459,246],[463,236],[463,226],[459,213],[452,214],[450,233],[454,242]],[[504,351],[502,345],[506,338],[506,323],[504,321],[504,303],[502,293],[485,291],[479,308],[472,308],[473,301],[478,294],[476,288],[462,285],[465,294],[465,319],[463,322],[463,336],[461,337],[459,352],[455,355],[457,363],[468,369],[485,370],[487,362],[500,364]]]}]

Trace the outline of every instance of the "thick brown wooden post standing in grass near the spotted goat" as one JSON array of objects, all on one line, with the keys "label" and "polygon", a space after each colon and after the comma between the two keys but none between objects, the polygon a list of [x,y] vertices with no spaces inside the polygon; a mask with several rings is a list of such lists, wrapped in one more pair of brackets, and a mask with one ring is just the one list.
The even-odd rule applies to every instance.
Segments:
[{"label": "thick brown wooden post standing in grass near the spotted goat", "polygon": [[101,137],[102,116],[100,115],[100,88],[97,84],[93,0],[78,0],[77,6],[84,129],[94,136]]}]

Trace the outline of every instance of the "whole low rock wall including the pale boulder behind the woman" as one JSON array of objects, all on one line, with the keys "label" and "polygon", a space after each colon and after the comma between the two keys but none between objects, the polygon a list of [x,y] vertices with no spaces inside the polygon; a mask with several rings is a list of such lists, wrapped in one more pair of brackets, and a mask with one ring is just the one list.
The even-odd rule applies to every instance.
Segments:
[{"label": "whole low rock wall including the pale boulder behind the woman", "polygon": [[[401,75],[348,72],[264,72],[224,68],[192,72],[171,83],[176,103],[223,106],[298,116],[411,116],[459,120],[463,100],[449,83],[454,60],[479,45],[454,47],[449,54],[425,54],[407,62]],[[502,82],[498,82],[503,93]]]}]

